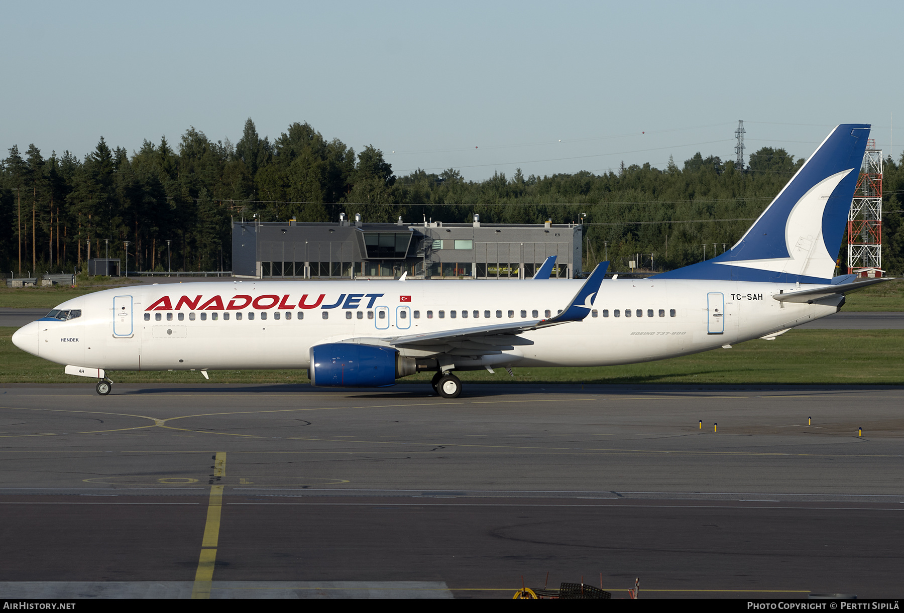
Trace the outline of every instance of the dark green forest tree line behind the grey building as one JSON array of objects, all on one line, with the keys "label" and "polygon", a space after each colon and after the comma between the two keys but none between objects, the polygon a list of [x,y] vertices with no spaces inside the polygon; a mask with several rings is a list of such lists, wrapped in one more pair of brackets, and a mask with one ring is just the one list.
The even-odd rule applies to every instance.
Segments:
[{"label": "dark green forest tree line behind the grey building", "polygon": [[[657,270],[730,248],[804,163],[763,147],[744,169],[698,153],[664,169],[524,176],[494,173],[466,181],[455,169],[392,174],[381,150],[326,140],[294,123],[270,141],[251,119],[234,146],[190,127],[171,145],[145,141],[131,155],[101,137],[80,158],[30,145],[0,162],[0,266],[26,273],[81,270],[88,257],[119,258],[130,270],[231,269],[231,219],[365,222],[423,219],[486,223],[586,223],[585,269],[629,259]],[[904,156],[885,160],[883,268],[904,270]],[[128,242],[128,245],[126,245]],[[107,251],[108,250],[108,251]],[[652,257],[651,257],[652,256]],[[844,265],[844,247],[840,254]],[[7,273],[8,275],[8,273]]]}]

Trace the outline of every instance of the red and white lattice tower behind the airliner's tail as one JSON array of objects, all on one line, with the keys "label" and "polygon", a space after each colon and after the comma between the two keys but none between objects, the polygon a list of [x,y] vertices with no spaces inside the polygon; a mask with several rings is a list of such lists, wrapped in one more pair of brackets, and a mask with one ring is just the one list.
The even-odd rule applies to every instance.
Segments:
[{"label": "red and white lattice tower behind the airliner's tail", "polygon": [[882,151],[867,141],[848,215],[848,274],[882,273]]}]

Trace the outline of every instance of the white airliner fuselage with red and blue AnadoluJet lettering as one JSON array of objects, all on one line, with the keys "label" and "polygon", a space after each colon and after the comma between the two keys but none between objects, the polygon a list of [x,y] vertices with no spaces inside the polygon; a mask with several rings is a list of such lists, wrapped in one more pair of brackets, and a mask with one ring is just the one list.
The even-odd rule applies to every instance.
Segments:
[{"label": "white airliner fuselage with red and blue AnadoluJet lettering", "polygon": [[[80,317],[34,322],[16,333],[15,342],[55,363],[108,371],[307,368],[309,350],[317,344],[555,316],[581,284],[361,280],[132,286],[73,298],[57,308],[80,309]],[[479,359],[461,356],[455,367],[611,365],[707,351],[837,310],[772,297],[806,287],[607,279],[583,321],[523,333],[533,344]]]}]

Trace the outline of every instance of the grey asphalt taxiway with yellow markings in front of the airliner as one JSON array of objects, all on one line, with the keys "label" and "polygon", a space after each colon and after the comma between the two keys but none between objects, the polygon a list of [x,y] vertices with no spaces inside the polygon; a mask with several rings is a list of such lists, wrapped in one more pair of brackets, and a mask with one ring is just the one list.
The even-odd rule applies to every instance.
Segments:
[{"label": "grey asphalt taxiway with yellow markings in front of the airliner", "polygon": [[[7,598],[901,595],[904,389],[7,384]],[[718,425],[716,425],[718,424]],[[714,431],[715,430],[715,431]]]}]

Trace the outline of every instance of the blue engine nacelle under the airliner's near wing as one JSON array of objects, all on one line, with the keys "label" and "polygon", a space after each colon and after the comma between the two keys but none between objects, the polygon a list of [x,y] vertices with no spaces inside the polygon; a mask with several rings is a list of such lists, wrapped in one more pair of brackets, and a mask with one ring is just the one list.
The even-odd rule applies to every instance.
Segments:
[{"label": "blue engine nacelle under the airliner's near wing", "polygon": [[315,387],[383,387],[416,369],[413,358],[372,344],[318,344],[310,357],[308,373]]}]

